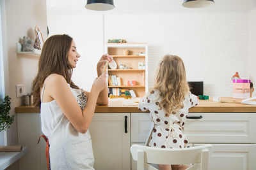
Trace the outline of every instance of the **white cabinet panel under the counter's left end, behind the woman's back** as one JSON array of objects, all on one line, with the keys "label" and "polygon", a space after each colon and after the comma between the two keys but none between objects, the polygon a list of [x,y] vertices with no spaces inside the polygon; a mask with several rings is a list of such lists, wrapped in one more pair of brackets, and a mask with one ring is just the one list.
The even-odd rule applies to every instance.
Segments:
[{"label": "white cabinet panel under the counter's left end, behind the woman's back", "polygon": [[37,145],[41,131],[40,113],[17,114],[18,143],[28,147],[28,153],[19,159],[19,170],[46,170],[46,143],[42,138]]}]

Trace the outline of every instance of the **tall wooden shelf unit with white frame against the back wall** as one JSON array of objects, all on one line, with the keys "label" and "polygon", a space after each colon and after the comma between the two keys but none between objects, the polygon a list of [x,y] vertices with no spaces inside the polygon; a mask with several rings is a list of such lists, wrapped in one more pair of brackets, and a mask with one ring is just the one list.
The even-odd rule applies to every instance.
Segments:
[{"label": "tall wooden shelf unit with white frame against the back wall", "polygon": [[[124,53],[129,50],[129,53]],[[136,97],[145,96],[148,90],[148,44],[147,43],[107,43],[106,52],[113,57],[117,64],[116,69],[108,69],[109,76],[120,77],[121,85],[109,86],[109,88],[120,88],[134,90]],[[143,55],[139,55],[143,53]],[[138,62],[145,64],[145,69],[139,69]],[[120,69],[120,64],[129,66],[130,69]],[[127,85],[129,80],[136,81],[136,85]]]}]

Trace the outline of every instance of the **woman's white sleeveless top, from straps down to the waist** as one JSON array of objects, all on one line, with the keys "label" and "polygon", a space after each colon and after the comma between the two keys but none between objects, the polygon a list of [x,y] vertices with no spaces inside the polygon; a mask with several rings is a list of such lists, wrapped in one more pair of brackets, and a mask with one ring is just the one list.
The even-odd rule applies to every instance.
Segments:
[{"label": "woman's white sleeveless top, from straps down to the waist", "polygon": [[[68,86],[70,87],[69,84]],[[44,95],[44,87],[41,93],[41,100]],[[72,89],[71,87],[70,90],[74,97],[76,97],[81,110],[83,110],[87,102],[83,90]],[[56,145],[54,148],[72,145],[90,138],[90,133],[88,131],[85,134],[76,131],[55,100],[41,103],[41,124],[42,132],[49,139],[49,145]],[[58,140],[58,143],[54,143],[54,140]]]}]

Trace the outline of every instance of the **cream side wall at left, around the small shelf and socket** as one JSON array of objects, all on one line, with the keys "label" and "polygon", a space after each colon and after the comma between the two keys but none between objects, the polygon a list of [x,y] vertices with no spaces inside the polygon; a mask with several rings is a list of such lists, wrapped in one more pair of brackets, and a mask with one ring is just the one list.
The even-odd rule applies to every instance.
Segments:
[{"label": "cream side wall at left, around the small shelf and socket", "polygon": [[[32,81],[38,66],[38,57],[17,55],[15,46],[22,36],[35,39],[36,25],[40,27],[44,39],[47,37],[46,0],[6,0],[5,11],[7,55],[4,57],[8,60],[9,68],[9,82],[6,82],[9,86],[6,93],[12,98],[10,112],[15,115],[15,107],[21,105],[21,98],[16,98],[15,85],[23,84],[24,91],[31,92]],[[16,145],[17,143],[17,117],[15,117],[15,122],[10,129],[7,129],[7,144]],[[17,169],[17,167],[13,167],[13,169]]]}]

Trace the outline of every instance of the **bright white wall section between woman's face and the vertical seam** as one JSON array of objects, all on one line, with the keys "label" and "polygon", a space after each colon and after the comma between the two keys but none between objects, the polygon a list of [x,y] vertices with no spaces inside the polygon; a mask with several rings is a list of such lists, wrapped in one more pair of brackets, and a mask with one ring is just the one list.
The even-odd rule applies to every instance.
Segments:
[{"label": "bright white wall section between woman's face and the vertical seam", "polygon": [[97,77],[97,62],[103,54],[103,17],[100,14],[47,15],[49,36],[68,34],[77,46],[81,58],[72,80],[80,88],[90,91]]}]

